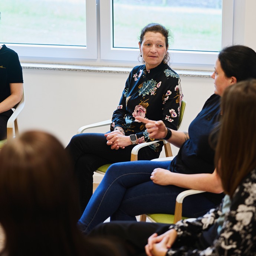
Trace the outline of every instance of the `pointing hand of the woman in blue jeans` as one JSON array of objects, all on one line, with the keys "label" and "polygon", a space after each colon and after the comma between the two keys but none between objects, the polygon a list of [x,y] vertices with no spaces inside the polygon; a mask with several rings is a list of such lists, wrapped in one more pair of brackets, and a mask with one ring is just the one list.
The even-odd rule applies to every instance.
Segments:
[{"label": "pointing hand of the woman in blue jeans", "polygon": [[167,128],[162,120],[153,121],[140,116],[136,116],[135,119],[146,124],[145,126],[150,138],[162,139],[167,135]]}]

